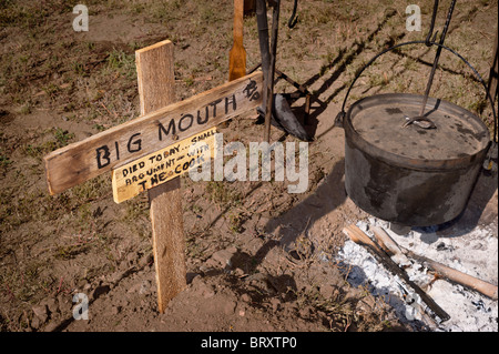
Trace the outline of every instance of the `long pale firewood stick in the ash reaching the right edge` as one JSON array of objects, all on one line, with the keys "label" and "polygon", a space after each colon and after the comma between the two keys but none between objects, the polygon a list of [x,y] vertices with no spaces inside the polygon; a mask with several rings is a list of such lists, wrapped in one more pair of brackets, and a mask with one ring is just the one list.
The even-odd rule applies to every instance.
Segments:
[{"label": "long pale firewood stick in the ash reaching the right edge", "polygon": [[374,226],[370,230],[373,230],[373,233],[374,233],[376,240],[378,241],[378,243],[380,245],[384,244],[390,251],[395,251],[394,254],[403,253],[406,256],[422,263],[424,266],[426,266],[427,269],[429,269],[431,271],[437,272],[439,276],[445,277],[450,282],[460,284],[466,287],[470,287],[492,300],[498,300],[497,285],[490,284],[486,281],[482,281],[482,280],[471,276],[469,274],[462,273],[450,266],[447,266],[439,262],[430,260],[426,256],[416,254],[416,253],[400,246],[399,244],[397,244],[397,242],[394,239],[391,239],[388,235],[388,233],[381,227]]}]

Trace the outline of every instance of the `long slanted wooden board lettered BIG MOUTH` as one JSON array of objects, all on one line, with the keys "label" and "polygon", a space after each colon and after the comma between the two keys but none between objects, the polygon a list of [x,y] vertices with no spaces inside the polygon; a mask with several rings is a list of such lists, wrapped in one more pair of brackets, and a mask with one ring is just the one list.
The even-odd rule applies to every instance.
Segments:
[{"label": "long slanted wooden board lettered BIG MOUTH", "polygon": [[51,152],[44,158],[50,193],[256,109],[262,104],[262,83],[257,71]]}]

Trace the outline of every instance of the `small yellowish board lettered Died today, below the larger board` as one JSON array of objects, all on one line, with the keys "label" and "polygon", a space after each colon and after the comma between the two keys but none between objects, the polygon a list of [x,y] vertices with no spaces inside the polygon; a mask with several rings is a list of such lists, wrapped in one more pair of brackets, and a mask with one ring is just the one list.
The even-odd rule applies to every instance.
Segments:
[{"label": "small yellowish board lettered Died today, below the larger board", "polygon": [[[173,145],[114,169],[114,202],[121,203],[139,193],[187,173],[214,158],[216,128],[207,129]],[[196,145],[197,142],[205,144]]]}]

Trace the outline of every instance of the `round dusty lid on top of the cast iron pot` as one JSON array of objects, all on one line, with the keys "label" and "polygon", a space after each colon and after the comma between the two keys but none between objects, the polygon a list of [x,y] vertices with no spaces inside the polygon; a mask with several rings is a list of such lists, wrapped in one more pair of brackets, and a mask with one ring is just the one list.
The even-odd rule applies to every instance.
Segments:
[{"label": "round dusty lid on top of the cast iron pot", "polygon": [[456,160],[483,151],[490,135],[471,112],[444,100],[428,98],[425,118],[436,129],[416,123],[404,128],[408,118],[419,115],[422,95],[378,94],[354,103],[347,119],[368,145],[411,160]]}]

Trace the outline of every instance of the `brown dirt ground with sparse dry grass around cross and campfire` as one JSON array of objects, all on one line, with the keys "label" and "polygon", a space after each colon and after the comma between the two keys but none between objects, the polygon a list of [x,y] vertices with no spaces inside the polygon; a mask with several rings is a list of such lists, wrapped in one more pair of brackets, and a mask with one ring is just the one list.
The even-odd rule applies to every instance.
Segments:
[{"label": "brown dirt ground with sparse dry grass around cross and campfire", "polygon": [[[0,2],[0,330],[42,331],[415,331],[335,259],[345,225],[369,215],[344,190],[344,131],[334,125],[356,72],[383,49],[422,40],[432,1],[420,0],[422,31],[406,29],[415,1],[282,1],[276,67],[314,94],[306,129],[307,192],[286,182],[193,182],[182,178],[187,287],[156,310],[146,194],[115,204],[111,174],[49,195],[43,156],[139,117],[134,51],[175,44],[177,100],[227,81],[232,1],[89,0],[88,32],[75,32],[78,1]],[[450,1],[441,1],[441,29]],[[497,0],[458,1],[446,44],[488,80]],[[259,59],[256,20],[244,20],[247,67]],[[347,107],[380,92],[422,93],[434,58],[425,45],[379,58]],[[277,92],[296,89],[281,80]],[[442,54],[431,95],[490,127],[483,88]],[[303,117],[304,100],[293,103]],[[263,125],[234,119],[225,141],[247,144]],[[272,140],[296,141],[277,129]],[[497,219],[497,178],[481,179],[470,222]],[[495,184],[493,184],[495,183]],[[495,185],[495,188],[491,188]],[[497,224],[496,224],[497,227]],[[496,280],[497,281],[497,280]],[[73,295],[89,320],[73,317]]]}]

